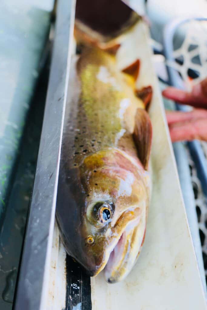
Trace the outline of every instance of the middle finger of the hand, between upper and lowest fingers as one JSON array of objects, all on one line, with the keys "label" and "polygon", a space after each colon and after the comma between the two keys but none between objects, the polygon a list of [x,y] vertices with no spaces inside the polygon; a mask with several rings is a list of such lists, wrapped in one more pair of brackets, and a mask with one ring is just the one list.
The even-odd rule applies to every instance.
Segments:
[{"label": "middle finger of the hand, between upper and lowest fingers", "polygon": [[190,112],[166,111],[166,118],[168,125],[175,122],[186,122],[197,118],[206,118],[207,120],[207,111],[204,109],[195,109]]}]

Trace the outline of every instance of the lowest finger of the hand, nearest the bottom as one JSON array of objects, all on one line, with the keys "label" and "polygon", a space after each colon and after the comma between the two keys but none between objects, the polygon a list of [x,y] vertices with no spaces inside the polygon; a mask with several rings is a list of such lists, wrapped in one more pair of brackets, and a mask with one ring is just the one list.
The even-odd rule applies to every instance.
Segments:
[{"label": "lowest finger of the hand, nearest the bottom", "polygon": [[174,123],[169,126],[169,131],[172,142],[194,139],[207,141],[207,119]]}]

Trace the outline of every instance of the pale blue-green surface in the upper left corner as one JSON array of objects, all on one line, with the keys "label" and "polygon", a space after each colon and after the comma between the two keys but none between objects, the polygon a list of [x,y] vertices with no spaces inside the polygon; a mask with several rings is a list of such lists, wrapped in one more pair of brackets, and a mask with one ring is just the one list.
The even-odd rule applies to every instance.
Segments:
[{"label": "pale blue-green surface in the upper left corner", "polygon": [[49,20],[25,1],[0,1],[0,228]]}]

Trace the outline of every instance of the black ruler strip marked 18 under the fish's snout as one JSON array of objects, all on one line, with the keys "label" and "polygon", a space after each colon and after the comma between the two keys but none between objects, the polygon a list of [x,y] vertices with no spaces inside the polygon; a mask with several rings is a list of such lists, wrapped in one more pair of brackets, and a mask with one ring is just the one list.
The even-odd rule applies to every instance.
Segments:
[{"label": "black ruler strip marked 18 under the fish's snout", "polygon": [[91,310],[91,280],[81,266],[66,256],[65,310]]}]

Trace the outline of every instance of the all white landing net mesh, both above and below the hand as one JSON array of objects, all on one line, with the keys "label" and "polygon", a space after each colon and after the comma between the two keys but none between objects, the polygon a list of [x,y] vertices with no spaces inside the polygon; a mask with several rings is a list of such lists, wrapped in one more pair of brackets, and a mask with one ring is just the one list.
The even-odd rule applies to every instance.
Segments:
[{"label": "all white landing net mesh, both above and below the hand", "polygon": [[[180,24],[173,36],[173,50],[174,60],[166,60],[166,64],[179,73],[178,79],[184,82],[189,91],[194,84],[207,76],[207,20],[190,20]],[[207,143],[202,141],[200,144],[207,159]],[[186,150],[207,283],[207,197],[203,193],[195,164],[187,148]]]}]

